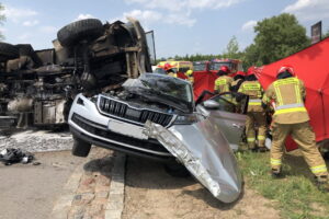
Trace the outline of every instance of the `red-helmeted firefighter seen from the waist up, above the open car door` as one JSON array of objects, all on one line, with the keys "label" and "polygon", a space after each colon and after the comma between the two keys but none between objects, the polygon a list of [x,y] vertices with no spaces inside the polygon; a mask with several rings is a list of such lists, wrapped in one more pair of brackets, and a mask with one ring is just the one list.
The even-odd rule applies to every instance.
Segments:
[{"label": "red-helmeted firefighter seen from the waist up, above the open car door", "polygon": [[216,93],[229,92],[232,78],[227,74],[230,73],[230,70],[227,66],[222,66],[217,72],[218,78],[215,80],[214,91]]}]

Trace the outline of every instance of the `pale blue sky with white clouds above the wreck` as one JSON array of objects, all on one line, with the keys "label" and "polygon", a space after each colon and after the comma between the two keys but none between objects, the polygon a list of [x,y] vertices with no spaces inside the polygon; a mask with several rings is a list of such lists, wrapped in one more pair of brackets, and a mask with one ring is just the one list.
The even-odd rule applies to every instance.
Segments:
[{"label": "pale blue sky with white clouds above the wreck", "polygon": [[138,19],[155,31],[157,57],[222,54],[236,36],[242,50],[254,37],[258,21],[283,12],[295,14],[306,27],[322,21],[329,31],[329,0],[5,0],[7,21],[0,26],[11,44],[52,48],[57,31],[73,21]]}]

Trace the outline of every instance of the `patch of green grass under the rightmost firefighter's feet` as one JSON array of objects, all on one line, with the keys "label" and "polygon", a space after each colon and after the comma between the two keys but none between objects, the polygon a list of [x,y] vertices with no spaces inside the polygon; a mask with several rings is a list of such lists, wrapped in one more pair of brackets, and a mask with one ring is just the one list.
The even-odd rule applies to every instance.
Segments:
[{"label": "patch of green grass under the rightmost firefighter's feet", "polygon": [[272,178],[270,153],[238,152],[246,184],[272,199],[283,218],[329,218],[329,193],[318,191],[300,155],[285,155],[283,178]]}]

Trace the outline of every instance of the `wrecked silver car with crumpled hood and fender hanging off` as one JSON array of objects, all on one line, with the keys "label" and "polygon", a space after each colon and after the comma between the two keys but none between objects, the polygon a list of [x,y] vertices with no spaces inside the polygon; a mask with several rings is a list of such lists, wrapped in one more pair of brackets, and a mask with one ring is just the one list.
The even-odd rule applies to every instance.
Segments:
[{"label": "wrecked silver car with crumpled hood and fender hanging off", "polygon": [[72,153],[87,157],[91,145],[124,153],[178,160],[224,203],[241,193],[232,153],[243,130],[248,96],[202,95],[190,82],[157,73],[128,79],[122,88],[93,96],[78,94],[69,114]]}]

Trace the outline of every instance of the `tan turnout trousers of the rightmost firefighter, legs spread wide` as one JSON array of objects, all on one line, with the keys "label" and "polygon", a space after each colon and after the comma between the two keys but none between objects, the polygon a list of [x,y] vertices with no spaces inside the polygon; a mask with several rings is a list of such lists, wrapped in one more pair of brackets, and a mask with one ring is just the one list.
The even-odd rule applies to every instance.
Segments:
[{"label": "tan turnout trousers of the rightmost firefighter, legs spread wide", "polygon": [[277,124],[272,126],[271,166],[280,172],[285,139],[292,135],[302,150],[303,157],[315,176],[328,175],[326,162],[315,141],[315,134],[308,122],[298,124]]}]

